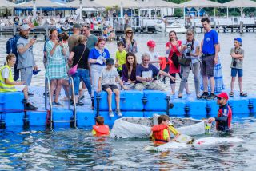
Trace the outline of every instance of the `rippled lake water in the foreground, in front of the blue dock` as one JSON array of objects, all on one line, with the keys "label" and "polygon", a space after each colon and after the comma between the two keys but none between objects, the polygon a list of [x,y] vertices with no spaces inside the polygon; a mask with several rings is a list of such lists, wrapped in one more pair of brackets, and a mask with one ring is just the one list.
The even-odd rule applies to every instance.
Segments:
[{"label": "rippled lake water in the foreground, in front of the blue dock", "polygon": [[[256,118],[234,118],[234,133],[246,142],[198,145],[169,152],[144,151],[148,140],[95,138],[85,129],[0,130],[0,170],[255,170]],[[223,137],[217,133],[201,137]],[[199,138],[199,137],[196,137]]]}]

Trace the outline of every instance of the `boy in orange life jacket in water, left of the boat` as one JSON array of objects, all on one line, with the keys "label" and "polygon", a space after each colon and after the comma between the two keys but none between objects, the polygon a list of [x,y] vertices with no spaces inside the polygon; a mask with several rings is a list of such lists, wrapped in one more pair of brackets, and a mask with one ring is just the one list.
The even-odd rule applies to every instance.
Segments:
[{"label": "boy in orange life jacket in water, left of the boat", "polygon": [[110,128],[108,125],[104,125],[104,117],[98,116],[95,118],[96,125],[93,125],[92,134],[96,137],[110,135]]}]

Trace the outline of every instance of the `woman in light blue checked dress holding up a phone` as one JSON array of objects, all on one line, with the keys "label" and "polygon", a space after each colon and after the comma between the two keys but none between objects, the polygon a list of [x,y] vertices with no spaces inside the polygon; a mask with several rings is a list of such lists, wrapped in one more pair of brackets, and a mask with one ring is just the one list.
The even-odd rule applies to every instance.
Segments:
[{"label": "woman in light blue checked dress holding up a phone", "polygon": [[50,94],[53,101],[55,90],[55,99],[53,105],[62,105],[58,102],[59,93],[62,89],[62,79],[66,78],[66,50],[62,42],[58,42],[58,31],[50,30],[50,41],[46,42],[47,65],[46,77],[50,79]]}]

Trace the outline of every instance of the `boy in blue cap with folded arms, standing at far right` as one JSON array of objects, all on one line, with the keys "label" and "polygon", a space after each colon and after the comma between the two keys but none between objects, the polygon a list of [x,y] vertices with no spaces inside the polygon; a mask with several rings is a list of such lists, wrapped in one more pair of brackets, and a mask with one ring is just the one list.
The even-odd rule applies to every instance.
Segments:
[{"label": "boy in blue cap with folded arms, standing at far right", "polygon": [[234,47],[230,50],[232,58],[231,62],[231,84],[230,97],[234,96],[234,81],[238,74],[238,82],[240,89],[240,96],[246,97],[247,93],[242,92],[242,61],[244,58],[244,50],[242,49],[242,38],[234,38]]}]

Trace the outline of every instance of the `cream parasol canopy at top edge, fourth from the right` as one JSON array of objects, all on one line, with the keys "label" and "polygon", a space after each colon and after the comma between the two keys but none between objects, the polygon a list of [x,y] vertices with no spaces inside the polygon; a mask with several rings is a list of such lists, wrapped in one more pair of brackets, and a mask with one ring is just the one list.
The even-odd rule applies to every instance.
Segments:
[{"label": "cream parasol canopy at top edge, fourth from the right", "polygon": [[94,0],[97,4],[102,4],[104,7],[119,6],[122,8],[138,8],[141,3],[132,0]]}]

